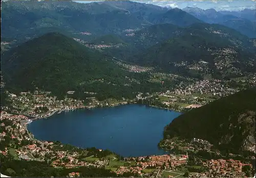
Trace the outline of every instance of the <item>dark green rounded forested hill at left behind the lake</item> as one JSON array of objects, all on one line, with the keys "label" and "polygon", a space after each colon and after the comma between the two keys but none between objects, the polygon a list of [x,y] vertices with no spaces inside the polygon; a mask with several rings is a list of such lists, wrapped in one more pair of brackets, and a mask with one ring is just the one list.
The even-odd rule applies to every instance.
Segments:
[{"label": "dark green rounded forested hill at left behind the lake", "polygon": [[75,90],[85,97],[84,91],[94,91],[103,99],[133,98],[135,91],[160,89],[160,84],[147,82],[146,73],[130,73],[112,59],[59,33],[46,34],[5,52],[1,70],[6,89],[14,92],[38,87],[62,96]]}]

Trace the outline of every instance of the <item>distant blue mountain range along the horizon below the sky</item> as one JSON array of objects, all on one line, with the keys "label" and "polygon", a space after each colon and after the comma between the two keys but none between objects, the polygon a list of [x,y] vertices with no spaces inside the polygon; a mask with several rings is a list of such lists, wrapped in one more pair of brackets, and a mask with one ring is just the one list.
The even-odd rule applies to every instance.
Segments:
[{"label": "distant blue mountain range along the horizon below the sky", "polygon": [[[91,40],[101,35],[120,34],[126,29],[141,29],[153,24],[172,23],[186,27],[204,21],[220,23],[255,37],[255,20],[252,15],[253,10],[230,13],[199,8],[180,10],[131,1],[90,4],[72,1],[7,1],[2,2],[1,35],[23,40],[25,37],[61,32]],[[89,32],[91,35],[81,35],[80,32]]]}]

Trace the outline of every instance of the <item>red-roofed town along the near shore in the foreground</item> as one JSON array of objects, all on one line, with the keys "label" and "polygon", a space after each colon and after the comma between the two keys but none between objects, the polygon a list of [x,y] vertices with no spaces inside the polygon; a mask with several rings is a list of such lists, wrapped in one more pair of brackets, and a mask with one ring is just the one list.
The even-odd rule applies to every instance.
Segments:
[{"label": "red-roofed town along the near shore in the foreground", "polygon": [[[10,156],[14,160],[46,161],[55,168],[103,167],[122,176],[244,177],[251,174],[252,164],[236,160],[236,156],[232,154],[229,159],[220,157],[208,160],[188,155],[189,149],[190,151],[210,151],[211,144],[206,140],[194,138],[189,144],[183,141],[172,142],[171,145],[178,147],[186,154],[174,152],[168,155],[123,158],[108,150],[82,149],[56,141],[36,140],[27,130],[29,122],[30,119],[27,116],[1,112],[2,156]],[[80,173],[69,172],[67,176],[80,176]]]}]

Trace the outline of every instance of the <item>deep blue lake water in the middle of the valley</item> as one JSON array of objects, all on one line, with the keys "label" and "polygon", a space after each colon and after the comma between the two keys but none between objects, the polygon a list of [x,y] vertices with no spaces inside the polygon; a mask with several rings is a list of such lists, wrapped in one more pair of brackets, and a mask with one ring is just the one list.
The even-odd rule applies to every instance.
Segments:
[{"label": "deep blue lake water in the middle of the valley", "polygon": [[123,157],[162,155],[165,151],[157,144],[163,137],[164,126],[180,114],[133,104],[63,111],[33,121],[28,129],[39,140],[109,149]]}]

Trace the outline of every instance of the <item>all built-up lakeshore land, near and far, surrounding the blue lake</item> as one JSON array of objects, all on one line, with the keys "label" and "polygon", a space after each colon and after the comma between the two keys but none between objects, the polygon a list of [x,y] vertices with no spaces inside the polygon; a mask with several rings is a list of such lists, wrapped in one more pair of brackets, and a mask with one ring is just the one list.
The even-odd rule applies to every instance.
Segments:
[{"label": "all built-up lakeshore land, near and far, surrounding the blue lake", "polygon": [[[255,82],[254,79],[255,76],[250,80],[251,85],[255,84],[252,82]],[[46,118],[64,110],[138,103],[186,112],[238,90],[220,80],[205,80],[190,85],[181,83],[172,91],[152,95],[138,93],[134,100],[99,101],[90,97],[87,98],[87,103],[71,97],[58,100],[51,92],[39,89],[34,92],[20,92],[18,95],[7,91],[12,107],[2,107],[1,111],[1,155],[13,157],[14,160],[47,162],[55,168],[104,168],[117,176],[248,177],[254,171],[249,161],[255,160],[254,156],[243,157],[231,153],[224,156],[215,150],[217,156],[208,157],[207,153],[213,152],[212,144],[198,138],[190,141],[175,138],[160,141],[159,147],[169,150],[172,154],[123,158],[109,150],[82,149],[56,141],[39,141],[27,130],[27,124],[33,119]],[[74,91],[68,91],[68,94],[72,95]],[[67,172],[65,176],[75,177],[83,174],[72,171]]]}]

